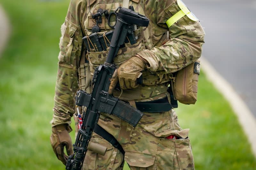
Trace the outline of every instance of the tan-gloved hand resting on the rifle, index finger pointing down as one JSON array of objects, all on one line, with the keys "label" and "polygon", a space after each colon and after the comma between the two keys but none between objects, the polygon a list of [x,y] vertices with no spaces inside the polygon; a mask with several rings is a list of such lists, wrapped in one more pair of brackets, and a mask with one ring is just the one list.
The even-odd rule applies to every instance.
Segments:
[{"label": "tan-gloved hand resting on the rifle, index finger pointing down", "polygon": [[108,93],[113,94],[118,81],[121,89],[136,88],[138,86],[136,85],[136,80],[141,76],[141,71],[145,68],[146,63],[139,55],[135,55],[121,64],[111,78]]}]

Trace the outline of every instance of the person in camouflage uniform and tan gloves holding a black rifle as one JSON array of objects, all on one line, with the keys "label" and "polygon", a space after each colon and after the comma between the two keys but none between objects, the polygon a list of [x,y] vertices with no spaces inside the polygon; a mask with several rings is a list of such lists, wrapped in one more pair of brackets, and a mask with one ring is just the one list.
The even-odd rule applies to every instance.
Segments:
[{"label": "person in camouflage uniform and tan gloves holding a black rifle", "polygon": [[[75,113],[76,91],[79,88],[85,90],[84,79],[90,78],[95,67],[103,64],[107,56],[107,51],[86,52],[82,38],[91,34],[91,16],[98,9],[110,13],[122,5],[123,0],[71,0],[65,23],[61,26],[51,143],[63,164],[67,161],[64,146],[68,155],[73,153],[68,132],[72,130],[70,123]],[[120,99],[129,101],[131,105],[134,105],[134,101],[153,101],[166,96],[170,101],[167,86],[172,78],[171,73],[188,66],[201,56],[203,28],[198,21],[186,15],[168,28],[165,22],[180,11],[177,0],[130,0],[129,5],[133,5],[136,12],[147,16],[150,23],[147,28],[138,27],[134,31],[138,36],[136,44],[128,44],[119,50],[114,59],[119,69],[112,78],[109,92],[119,97],[121,93],[114,89],[119,81],[124,89]],[[115,18],[110,18],[110,23],[113,22]],[[105,19],[100,27],[101,32],[112,29]],[[84,74],[84,67],[88,65],[85,60],[89,61],[91,75]],[[129,68],[131,64],[132,69]],[[123,76],[124,71],[136,75],[142,72],[143,84],[135,85],[136,79]],[[90,87],[87,92],[88,89]],[[102,156],[88,150],[83,169],[122,169],[123,160],[127,161],[131,169],[194,169],[189,129],[180,128],[173,109],[168,112],[144,112],[135,128],[105,113],[101,113],[98,124],[117,139],[125,154],[93,133],[91,142],[106,146],[107,152]],[[170,135],[176,139],[167,139]]]}]

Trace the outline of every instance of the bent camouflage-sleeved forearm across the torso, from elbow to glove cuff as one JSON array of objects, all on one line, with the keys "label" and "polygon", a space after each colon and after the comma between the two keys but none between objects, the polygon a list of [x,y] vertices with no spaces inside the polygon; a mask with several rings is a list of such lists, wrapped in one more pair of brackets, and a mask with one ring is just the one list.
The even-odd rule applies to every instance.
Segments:
[{"label": "bent camouflage-sleeved forearm across the torso, from elbow to glove cuff", "polygon": [[196,42],[181,35],[161,47],[139,52],[138,55],[148,61],[147,67],[150,71],[171,73],[186,67],[201,56],[204,43],[203,38],[201,40]]}]

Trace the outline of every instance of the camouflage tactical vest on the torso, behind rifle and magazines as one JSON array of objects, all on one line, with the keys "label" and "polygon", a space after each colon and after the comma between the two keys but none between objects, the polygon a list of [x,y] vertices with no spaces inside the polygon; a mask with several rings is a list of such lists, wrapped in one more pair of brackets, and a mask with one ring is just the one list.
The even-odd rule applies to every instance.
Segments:
[{"label": "camouflage tactical vest on the torso, behind rifle and magazines", "polygon": [[[139,0],[131,0],[129,5],[133,5],[134,11],[139,12],[142,15],[148,17],[148,13],[145,12],[144,1]],[[108,10],[108,13],[115,11],[118,7],[123,6],[123,0],[111,0],[110,3],[106,3],[106,0],[90,0],[90,11],[89,11],[89,0],[87,0],[87,12],[83,17],[83,29],[86,35],[91,34],[91,29],[93,26],[92,14],[97,13],[98,9]],[[114,16],[113,16],[114,17]],[[148,17],[149,18],[149,17]],[[114,25],[115,18],[110,18],[110,24]],[[98,33],[103,34],[110,30],[113,30],[107,22],[107,19],[102,16],[102,23],[99,25],[101,28],[101,32]],[[151,50],[153,48],[152,43],[152,22],[147,28],[138,27],[137,30],[134,31],[134,34],[137,39],[137,43],[131,45],[130,43],[126,43],[124,48],[120,48],[117,56],[114,58],[114,63],[118,68],[122,63],[127,61],[136,53],[143,51],[145,49]],[[166,37],[166,35],[163,34]],[[166,39],[164,37],[164,39]],[[82,59],[80,62],[79,71],[79,84],[80,89],[85,90],[86,84],[90,82],[94,70],[100,64],[104,64],[107,58],[108,51],[96,52],[95,50],[87,51],[86,59],[88,60],[88,64],[83,62]],[[87,68],[89,67],[89,68]],[[85,74],[85,72],[87,72]],[[88,79],[88,74],[90,74],[91,78]],[[86,75],[86,77],[85,77]],[[142,72],[143,84],[139,85],[135,89],[124,90],[122,93],[116,90],[114,92],[115,97],[120,97],[121,100],[135,100],[135,101],[147,101],[154,99],[154,96],[158,96],[159,94],[166,93],[168,83],[172,77],[170,74],[161,74],[161,73],[152,73],[148,69]],[[87,83],[86,83],[87,81]],[[86,89],[88,92],[89,88]],[[121,96],[120,96],[121,94]]]}]

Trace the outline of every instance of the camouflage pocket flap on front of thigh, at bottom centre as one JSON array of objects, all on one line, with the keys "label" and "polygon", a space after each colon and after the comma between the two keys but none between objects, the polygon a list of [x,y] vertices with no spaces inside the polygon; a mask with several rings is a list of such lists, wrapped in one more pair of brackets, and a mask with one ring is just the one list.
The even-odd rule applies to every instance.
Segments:
[{"label": "camouflage pocket flap on front of thigh, at bottom centre", "polygon": [[130,166],[149,167],[154,164],[155,159],[156,159],[155,155],[147,154],[147,153],[125,151],[125,154],[124,154],[124,160]]}]

